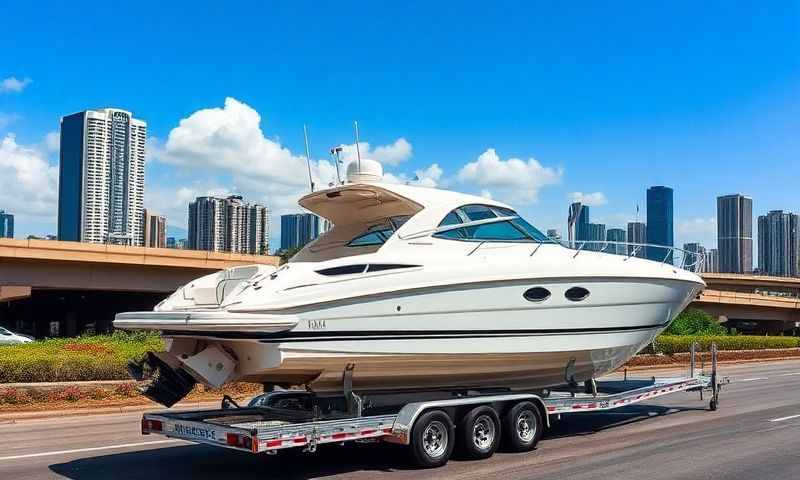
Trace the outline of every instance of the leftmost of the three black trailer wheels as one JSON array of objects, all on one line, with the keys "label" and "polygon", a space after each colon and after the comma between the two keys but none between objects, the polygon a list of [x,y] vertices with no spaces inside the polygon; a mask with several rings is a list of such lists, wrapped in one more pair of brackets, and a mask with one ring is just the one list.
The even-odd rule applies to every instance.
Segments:
[{"label": "leftmost of the three black trailer wheels", "polygon": [[411,458],[422,468],[441,467],[453,453],[454,440],[455,426],[450,416],[441,410],[426,412],[411,429]]}]

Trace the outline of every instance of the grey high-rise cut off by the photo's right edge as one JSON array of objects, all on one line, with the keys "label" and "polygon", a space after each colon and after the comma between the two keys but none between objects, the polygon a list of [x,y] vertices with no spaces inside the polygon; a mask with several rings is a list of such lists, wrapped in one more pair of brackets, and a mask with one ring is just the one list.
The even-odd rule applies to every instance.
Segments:
[{"label": "grey high-rise cut off by the photo's right edge", "polygon": [[764,275],[796,277],[800,273],[800,217],[772,210],[758,217],[758,269]]}]

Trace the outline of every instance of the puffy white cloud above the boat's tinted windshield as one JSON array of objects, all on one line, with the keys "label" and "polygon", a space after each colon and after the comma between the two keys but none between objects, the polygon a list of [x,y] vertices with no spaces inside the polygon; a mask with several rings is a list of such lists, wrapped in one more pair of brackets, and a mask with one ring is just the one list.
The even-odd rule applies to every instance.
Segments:
[{"label": "puffy white cloud above the boat's tinted windshield", "polygon": [[457,180],[484,190],[491,189],[497,198],[510,203],[535,203],[539,190],[559,183],[562,174],[561,169],[545,167],[534,158],[502,160],[489,148],[477,160],[464,165]]}]

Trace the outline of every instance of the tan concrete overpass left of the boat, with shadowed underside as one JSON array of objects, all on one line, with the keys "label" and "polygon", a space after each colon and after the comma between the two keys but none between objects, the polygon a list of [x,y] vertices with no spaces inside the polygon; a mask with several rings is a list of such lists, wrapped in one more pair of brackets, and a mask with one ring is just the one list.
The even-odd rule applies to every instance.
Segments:
[{"label": "tan concrete overpass left of the boat, with shadowed underside", "polygon": [[190,280],[278,257],[0,238],[0,325],[36,337],[107,331]]}]

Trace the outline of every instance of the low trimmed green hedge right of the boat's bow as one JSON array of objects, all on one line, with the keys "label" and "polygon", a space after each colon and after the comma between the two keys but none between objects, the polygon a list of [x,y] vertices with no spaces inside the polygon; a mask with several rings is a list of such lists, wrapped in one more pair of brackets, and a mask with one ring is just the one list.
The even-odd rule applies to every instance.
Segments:
[{"label": "low trimmed green hedge right of the boat's bow", "polygon": [[685,353],[691,350],[692,342],[699,350],[708,350],[712,343],[719,350],[765,350],[772,348],[800,347],[800,337],[763,337],[759,335],[713,336],[713,335],[661,335],[656,338],[655,350],[645,353]]}]

